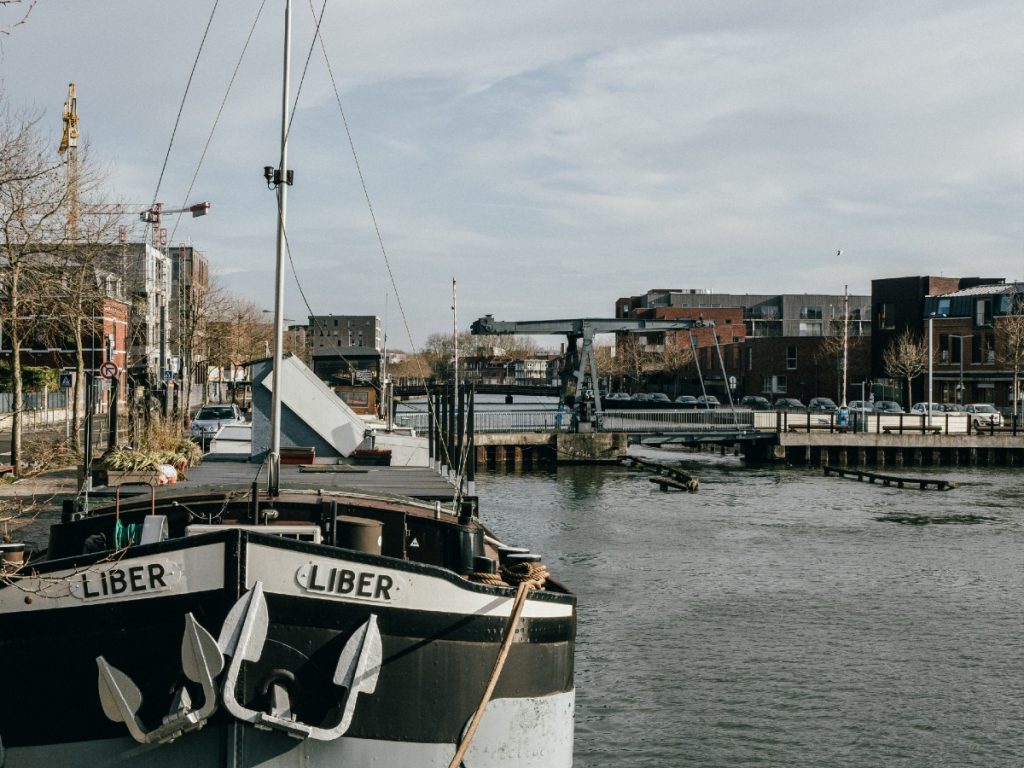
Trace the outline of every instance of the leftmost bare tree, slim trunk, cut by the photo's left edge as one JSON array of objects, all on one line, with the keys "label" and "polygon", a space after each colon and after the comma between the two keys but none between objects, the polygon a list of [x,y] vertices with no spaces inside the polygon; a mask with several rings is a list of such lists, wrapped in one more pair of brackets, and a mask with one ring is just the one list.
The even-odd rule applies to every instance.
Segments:
[{"label": "leftmost bare tree, slim trunk, cut by the photo's left edge", "polygon": [[63,167],[38,129],[38,117],[11,115],[0,104],[0,263],[5,274],[4,330],[11,351],[13,418],[11,464],[22,474],[22,412],[25,391],[22,349],[38,331],[41,317],[52,317],[43,284],[47,262],[66,233],[68,185]]}]

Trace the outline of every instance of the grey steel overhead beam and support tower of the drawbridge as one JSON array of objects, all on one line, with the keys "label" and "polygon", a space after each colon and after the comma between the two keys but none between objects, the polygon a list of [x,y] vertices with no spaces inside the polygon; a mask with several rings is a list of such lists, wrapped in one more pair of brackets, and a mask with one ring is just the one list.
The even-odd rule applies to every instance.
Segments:
[{"label": "grey steel overhead beam and support tower of the drawbridge", "polygon": [[[601,415],[600,388],[597,379],[597,358],[594,355],[594,336],[596,334],[640,333],[642,331],[690,331],[694,328],[713,328],[711,319],[680,318],[675,321],[658,319],[628,319],[625,317],[580,317],[575,319],[550,321],[496,321],[493,314],[484,315],[473,322],[470,332],[476,336],[492,336],[499,334],[543,334],[565,336],[568,346],[565,350],[565,364],[562,367],[562,401],[568,390],[568,373],[575,377],[575,394],[573,404],[579,406],[583,399],[584,381],[589,376],[594,389],[594,410]],[[580,349],[577,342],[583,341]]]}]

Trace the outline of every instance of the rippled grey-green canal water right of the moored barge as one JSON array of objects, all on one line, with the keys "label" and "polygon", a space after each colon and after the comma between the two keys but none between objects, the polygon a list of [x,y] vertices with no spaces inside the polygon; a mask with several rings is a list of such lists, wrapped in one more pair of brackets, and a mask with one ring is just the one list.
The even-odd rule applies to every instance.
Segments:
[{"label": "rippled grey-green canal water right of the moored barge", "polygon": [[[577,766],[1024,766],[1019,471],[913,470],[962,483],[921,492],[642,454],[688,457],[700,492],[477,478],[578,592]],[[906,514],[929,523],[880,519]]]}]

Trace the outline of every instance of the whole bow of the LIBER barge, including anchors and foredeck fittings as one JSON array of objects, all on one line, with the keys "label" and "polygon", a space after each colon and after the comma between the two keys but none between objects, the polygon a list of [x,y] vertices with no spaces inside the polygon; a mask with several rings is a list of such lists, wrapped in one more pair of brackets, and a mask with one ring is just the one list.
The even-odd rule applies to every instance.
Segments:
[{"label": "whole bow of the LIBER barge, including anchors and foredeck fittings", "polygon": [[[3,768],[443,768],[492,677],[462,764],[571,765],[569,592],[474,581],[467,558],[507,554],[472,517],[358,495],[273,506],[258,524],[238,495],[179,494],[55,525],[0,587]],[[339,546],[342,519],[381,551]],[[97,548],[146,526],[164,532]]]}]

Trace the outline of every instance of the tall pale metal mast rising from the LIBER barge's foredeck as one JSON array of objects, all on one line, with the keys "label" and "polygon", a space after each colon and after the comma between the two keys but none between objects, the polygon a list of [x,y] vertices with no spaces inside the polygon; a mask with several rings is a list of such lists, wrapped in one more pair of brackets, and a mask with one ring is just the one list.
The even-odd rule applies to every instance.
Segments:
[{"label": "tall pale metal mast rising from the LIBER barge's foredeck", "polygon": [[[285,214],[288,210],[288,187],[292,183],[288,170],[288,90],[292,57],[292,2],[285,0],[285,66],[281,98],[281,164],[274,174],[278,191],[278,260],[273,294],[273,361],[270,374],[270,453],[269,492],[276,496],[281,487],[281,361],[285,340]],[[265,169],[264,169],[265,171]]]}]

